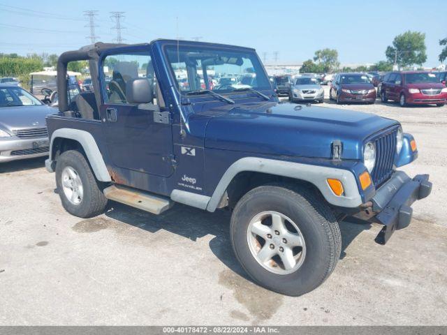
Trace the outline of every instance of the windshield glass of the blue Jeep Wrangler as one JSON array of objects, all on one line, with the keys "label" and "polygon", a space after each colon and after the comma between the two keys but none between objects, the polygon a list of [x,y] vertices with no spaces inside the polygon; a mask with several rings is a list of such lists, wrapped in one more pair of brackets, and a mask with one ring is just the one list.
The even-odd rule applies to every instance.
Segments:
[{"label": "windshield glass of the blue Jeep Wrangler", "polygon": [[255,52],[219,47],[168,46],[166,55],[177,85],[184,92],[209,89],[229,93],[235,89],[271,89]]}]

